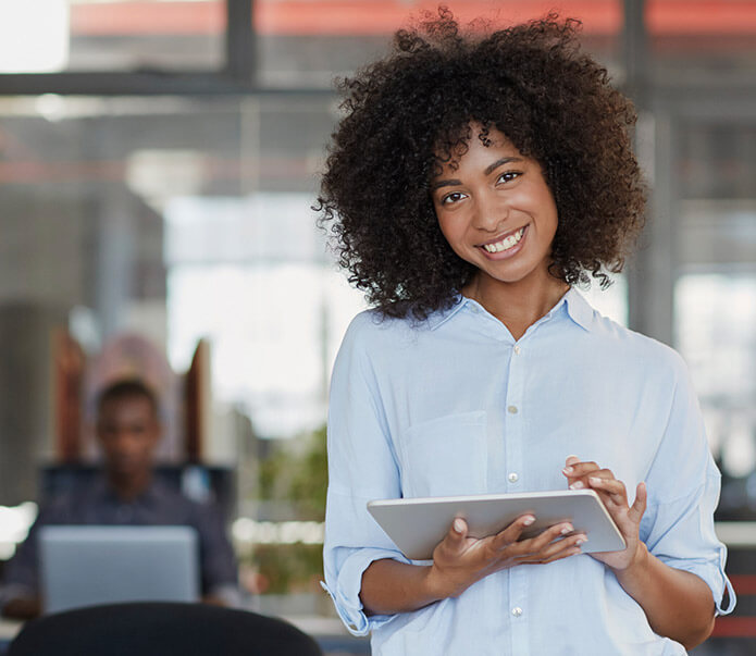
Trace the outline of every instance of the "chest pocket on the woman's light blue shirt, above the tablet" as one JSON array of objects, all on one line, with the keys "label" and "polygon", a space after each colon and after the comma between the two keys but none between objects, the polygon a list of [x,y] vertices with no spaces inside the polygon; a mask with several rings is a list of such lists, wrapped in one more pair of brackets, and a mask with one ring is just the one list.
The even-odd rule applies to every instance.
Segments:
[{"label": "chest pocket on the woman's light blue shirt, above the tablet", "polygon": [[486,413],[447,414],[410,426],[401,436],[406,497],[486,491]]}]

